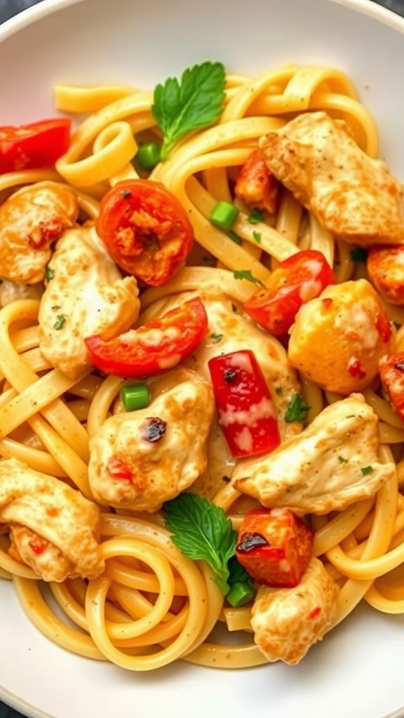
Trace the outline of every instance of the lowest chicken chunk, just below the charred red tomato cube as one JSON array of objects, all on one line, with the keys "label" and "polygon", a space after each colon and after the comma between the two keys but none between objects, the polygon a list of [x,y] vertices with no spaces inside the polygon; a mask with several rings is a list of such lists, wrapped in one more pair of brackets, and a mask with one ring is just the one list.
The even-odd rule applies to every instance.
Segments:
[{"label": "lowest chicken chunk, just below the charred red tomato cube", "polygon": [[252,607],[254,641],[268,661],[298,663],[336,620],[339,588],[312,558],[294,588],[261,586]]}]

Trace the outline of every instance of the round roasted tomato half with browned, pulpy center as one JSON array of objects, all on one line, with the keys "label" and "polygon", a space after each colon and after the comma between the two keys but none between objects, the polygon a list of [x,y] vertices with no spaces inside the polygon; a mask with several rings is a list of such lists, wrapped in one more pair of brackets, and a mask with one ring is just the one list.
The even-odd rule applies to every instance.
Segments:
[{"label": "round roasted tomato half with browned, pulpy center", "polygon": [[160,182],[117,182],[101,200],[96,230],[115,263],[150,286],[165,284],[193,247],[193,226]]}]

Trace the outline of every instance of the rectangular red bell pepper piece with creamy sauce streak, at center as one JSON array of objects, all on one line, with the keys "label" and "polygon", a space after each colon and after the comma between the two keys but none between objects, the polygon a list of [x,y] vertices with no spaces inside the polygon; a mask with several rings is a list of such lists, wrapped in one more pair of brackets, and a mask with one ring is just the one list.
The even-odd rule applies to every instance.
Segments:
[{"label": "rectangular red bell pepper piece with creamy sauce streak, at center", "polygon": [[219,424],[235,457],[272,451],[280,434],[270,389],[249,350],[214,357],[208,362]]}]

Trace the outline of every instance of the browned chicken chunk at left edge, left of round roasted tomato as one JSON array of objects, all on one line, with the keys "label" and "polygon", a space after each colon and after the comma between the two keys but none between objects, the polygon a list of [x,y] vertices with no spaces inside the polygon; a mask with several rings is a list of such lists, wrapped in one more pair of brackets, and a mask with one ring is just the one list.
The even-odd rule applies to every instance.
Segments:
[{"label": "browned chicken chunk at left edge, left of round roasted tomato", "polygon": [[0,276],[17,284],[42,281],[51,247],[78,218],[75,192],[58,182],[22,187],[0,207]]}]

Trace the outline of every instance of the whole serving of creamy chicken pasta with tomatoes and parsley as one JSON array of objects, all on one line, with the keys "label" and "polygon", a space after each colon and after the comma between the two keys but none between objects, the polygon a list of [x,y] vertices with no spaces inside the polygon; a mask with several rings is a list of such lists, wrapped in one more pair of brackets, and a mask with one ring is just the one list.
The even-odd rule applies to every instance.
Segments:
[{"label": "whole serving of creamy chicken pasta with tomatoes and parsley", "polygon": [[403,187],[352,81],[204,62],[55,109],[0,128],[0,578],[29,620],[150,671],[403,613]]}]

